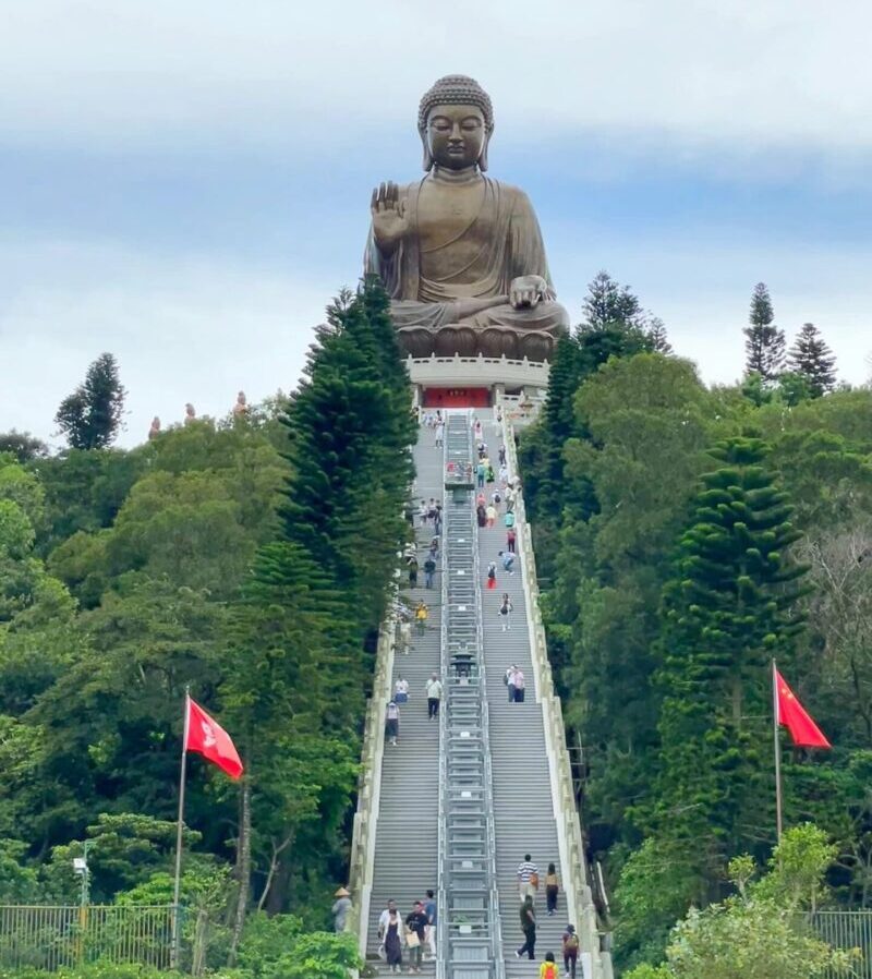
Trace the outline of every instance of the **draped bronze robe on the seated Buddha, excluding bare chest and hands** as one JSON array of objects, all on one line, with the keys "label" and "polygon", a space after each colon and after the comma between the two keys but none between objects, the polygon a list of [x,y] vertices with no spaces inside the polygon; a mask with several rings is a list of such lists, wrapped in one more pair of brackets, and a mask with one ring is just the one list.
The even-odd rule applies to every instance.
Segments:
[{"label": "draped bronze robe on the seated Buddha, excluding bare chest and hands", "polygon": [[[379,276],[385,283],[391,298],[391,315],[401,333],[438,330],[460,323],[476,330],[508,327],[512,331],[535,330],[556,336],[568,326],[566,310],[554,301],[542,232],[526,194],[488,177],[483,179],[482,207],[460,239],[473,232],[477,222],[486,222],[485,229],[491,231],[475,258],[463,259],[462,266],[460,258],[452,263],[450,254],[451,245],[460,239],[441,245],[438,251],[447,254],[439,256],[445,271],[438,279],[426,278],[422,273],[417,200],[423,181],[401,191],[410,232],[391,255],[379,252],[370,228],[364,270]],[[509,303],[511,281],[531,275],[545,279],[547,292],[535,306],[516,310]],[[470,306],[476,304],[464,300],[482,300],[481,305],[486,309],[470,312]],[[491,304],[488,300],[501,302]]]}]

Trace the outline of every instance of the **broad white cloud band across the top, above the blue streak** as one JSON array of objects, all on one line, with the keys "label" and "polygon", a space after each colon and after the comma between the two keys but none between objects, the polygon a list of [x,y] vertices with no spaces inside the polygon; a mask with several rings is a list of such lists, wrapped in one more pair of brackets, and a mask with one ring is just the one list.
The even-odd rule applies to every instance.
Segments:
[{"label": "broad white cloud band across the top, above the blue streak", "polygon": [[511,142],[850,154],[872,148],[870,36],[862,0],[27,0],[4,4],[0,132],[365,152],[465,71]]}]

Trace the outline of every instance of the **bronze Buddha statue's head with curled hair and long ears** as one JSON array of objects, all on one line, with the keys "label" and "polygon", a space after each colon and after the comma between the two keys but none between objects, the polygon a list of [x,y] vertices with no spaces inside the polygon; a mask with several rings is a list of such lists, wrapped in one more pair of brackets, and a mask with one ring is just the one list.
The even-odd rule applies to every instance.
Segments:
[{"label": "bronze Buddha statue's head with curled hair and long ears", "polygon": [[417,110],[424,145],[424,169],[433,165],[464,170],[487,169],[487,144],[494,132],[494,109],[482,86],[467,75],[446,75],[425,93]]}]

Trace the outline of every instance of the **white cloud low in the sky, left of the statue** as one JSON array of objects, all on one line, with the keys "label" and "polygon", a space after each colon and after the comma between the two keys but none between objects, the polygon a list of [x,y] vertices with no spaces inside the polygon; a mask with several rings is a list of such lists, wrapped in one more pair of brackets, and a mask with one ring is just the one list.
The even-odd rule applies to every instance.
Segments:
[{"label": "white cloud low in the sky, left of the statue", "polygon": [[155,414],[181,421],[186,401],[221,416],[240,389],[256,401],[292,388],[334,291],[109,243],[0,245],[0,267],[17,282],[0,306],[0,431],[48,438],[61,399],[108,350],[129,391],[124,445],[142,442]]}]

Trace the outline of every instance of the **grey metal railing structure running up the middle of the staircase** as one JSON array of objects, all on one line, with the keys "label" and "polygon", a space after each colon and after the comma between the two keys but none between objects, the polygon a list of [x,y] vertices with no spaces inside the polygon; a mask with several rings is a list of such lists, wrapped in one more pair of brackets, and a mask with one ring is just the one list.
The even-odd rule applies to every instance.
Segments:
[{"label": "grey metal railing structure running up the middle of the staircase", "polygon": [[[468,412],[445,430],[438,979],[505,979]],[[462,476],[459,474],[463,474]]]}]

